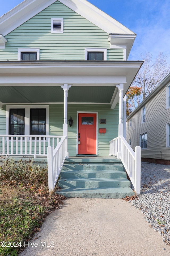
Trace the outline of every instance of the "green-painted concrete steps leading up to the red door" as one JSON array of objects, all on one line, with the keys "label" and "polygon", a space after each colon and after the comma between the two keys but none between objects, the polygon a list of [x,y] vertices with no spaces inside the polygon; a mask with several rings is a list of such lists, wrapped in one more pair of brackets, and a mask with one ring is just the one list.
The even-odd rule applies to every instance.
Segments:
[{"label": "green-painted concrete steps leading up to the red door", "polygon": [[124,167],[116,158],[67,159],[58,186],[60,194],[66,197],[122,198],[134,195]]}]

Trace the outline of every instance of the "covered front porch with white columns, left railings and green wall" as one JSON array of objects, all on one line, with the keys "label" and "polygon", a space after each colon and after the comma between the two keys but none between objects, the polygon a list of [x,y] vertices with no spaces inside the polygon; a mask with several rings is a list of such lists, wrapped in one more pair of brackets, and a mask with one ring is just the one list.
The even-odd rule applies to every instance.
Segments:
[{"label": "covered front porch with white columns, left railings and green wall", "polygon": [[[123,118],[126,119],[126,111],[123,114],[126,101],[123,98],[142,63],[140,61],[0,62],[0,107],[3,112],[0,154],[33,157],[48,155],[48,167],[50,173],[53,173],[51,178],[49,177],[53,184],[49,188],[52,189],[65,158],[79,153],[78,114],[96,113],[95,155],[99,155],[99,150],[102,155],[103,150],[103,156],[110,154],[116,155],[118,159],[121,158],[122,147],[119,138],[125,134]],[[16,133],[10,134],[10,109],[23,108],[25,109],[24,132],[18,133],[17,130]],[[31,134],[29,111],[41,108],[46,109],[44,123],[40,123],[45,125],[45,130],[43,133],[39,131],[39,134]],[[73,109],[74,116],[71,112]],[[104,109],[100,116],[97,109]],[[99,120],[106,119],[108,113],[106,109],[115,111],[112,117],[112,112],[109,112],[109,118],[114,119],[114,125],[111,123],[107,133],[102,134],[105,141],[100,143],[99,128],[103,128],[104,124]],[[55,113],[57,113],[56,119]],[[74,129],[73,126],[68,128],[67,121],[70,117],[74,120]],[[17,125],[19,127],[19,123]],[[112,147],[109,150],[109,141],[117,137],[115,154],[111,151]]]}]

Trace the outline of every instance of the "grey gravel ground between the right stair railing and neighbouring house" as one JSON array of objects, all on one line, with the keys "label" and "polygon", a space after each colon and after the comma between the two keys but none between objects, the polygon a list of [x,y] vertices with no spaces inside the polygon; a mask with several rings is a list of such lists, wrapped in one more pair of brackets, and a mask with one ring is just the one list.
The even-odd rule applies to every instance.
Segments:
[{"label": "grey gravel ground between the right stair railing and neighbouring house", "polygon": [[170,245],[170,165],[141,163],[141,195],[129,201]]}]

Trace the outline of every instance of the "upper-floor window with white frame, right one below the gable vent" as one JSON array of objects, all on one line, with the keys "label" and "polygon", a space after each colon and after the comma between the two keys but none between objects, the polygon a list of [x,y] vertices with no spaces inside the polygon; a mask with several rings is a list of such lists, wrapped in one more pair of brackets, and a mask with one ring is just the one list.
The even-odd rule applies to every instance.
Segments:
[{"label": "upper-floor window with white frame, right one below the gable vent", "polygon": [[106,48],[85,48],[84,54],[85,61],[107,61]]}]

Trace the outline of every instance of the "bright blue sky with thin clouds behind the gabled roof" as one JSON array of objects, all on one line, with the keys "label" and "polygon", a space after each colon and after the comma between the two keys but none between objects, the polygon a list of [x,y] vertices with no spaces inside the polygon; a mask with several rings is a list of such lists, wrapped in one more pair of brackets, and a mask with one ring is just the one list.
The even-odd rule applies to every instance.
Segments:
[{"label": "bright blue sky with thin clouds behind the gabled roof", "polygon": [[[22,0],[1,2],[0,16]],[[159,52],[170,64],[170,1],[169,0],[89,0],[137,34],[129,60],[141,60],[141,53],[150,52],[153,58]]]}]

